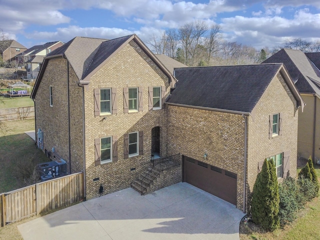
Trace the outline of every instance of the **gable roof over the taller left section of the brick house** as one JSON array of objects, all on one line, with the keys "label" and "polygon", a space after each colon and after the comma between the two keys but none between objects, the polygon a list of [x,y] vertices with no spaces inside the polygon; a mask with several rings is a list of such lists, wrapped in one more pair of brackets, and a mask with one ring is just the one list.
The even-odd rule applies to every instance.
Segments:
[{"label": "gable roof over the taller left section of the brick house", "polygon": [[88,84],[90,77],[131,40],[134,40],[135,43],[141,47],[141,49],[166,74],[171,84],[174,85],[174,76],[154,56],[137,35],[132,34],[111,40],[77,36],[44,57],[42,67],[31,93],[31,98],[35,97],[49,59],[55,57],[66,58],[79,79],[79,83]]}]

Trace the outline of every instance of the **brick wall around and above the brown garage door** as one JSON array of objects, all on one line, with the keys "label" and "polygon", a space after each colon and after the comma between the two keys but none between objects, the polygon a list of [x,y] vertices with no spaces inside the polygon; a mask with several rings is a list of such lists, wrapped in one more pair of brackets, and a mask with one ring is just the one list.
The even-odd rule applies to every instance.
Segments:
[{"label": "brick wall around and above the brown garage door", "polygon": [[[238,114],[167,105],[169,154],[237,174],[236,207],[242,209],[244,122]],[[203,159],[207,153],[206,160]]]}]

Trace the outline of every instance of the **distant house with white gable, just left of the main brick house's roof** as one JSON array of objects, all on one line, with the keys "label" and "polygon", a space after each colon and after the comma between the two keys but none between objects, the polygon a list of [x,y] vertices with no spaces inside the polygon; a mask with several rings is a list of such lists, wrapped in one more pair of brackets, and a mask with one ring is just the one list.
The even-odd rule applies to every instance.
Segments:
[{"label": "distant house with white gable, just left of the main brick house's roof", "polygon": [[36,79],[41,68],[43,57],[54,49],[63,45],[61,41],[46,42],[43,45],[35,45],[16,55],[16,59],[25,64],[26,79]]}]

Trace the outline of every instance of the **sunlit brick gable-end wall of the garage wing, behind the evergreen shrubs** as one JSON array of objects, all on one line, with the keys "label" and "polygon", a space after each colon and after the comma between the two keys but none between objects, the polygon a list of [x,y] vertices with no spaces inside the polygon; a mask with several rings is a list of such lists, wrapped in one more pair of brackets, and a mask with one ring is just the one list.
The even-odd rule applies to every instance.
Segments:
[{"label": "sunlit brick gable-end wall of the garage wing, behind the evergreen shrubs", "polygon": [[[274,77],[248,118],[247,193],[253,190],[258,162],[280,152],[290,151],[290,176],[296,176],[297,121],[296,102],[281,74]],[[269,115],[282,113],[282,135],[269,139]],[[246,194],[246,196],[248,196]]]}]

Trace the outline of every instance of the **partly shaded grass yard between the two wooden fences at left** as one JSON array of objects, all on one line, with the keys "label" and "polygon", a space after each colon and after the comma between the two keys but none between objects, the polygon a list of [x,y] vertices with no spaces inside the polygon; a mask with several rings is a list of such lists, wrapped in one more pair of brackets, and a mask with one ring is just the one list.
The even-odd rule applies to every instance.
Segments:
[{"label": "partly shaded grass yard between the two wooden fences at left", "polygon": [[[3,124],[3,123],[1,123]],[[21,166],[48,161],[44,153],[24,131],[34,130],[34,120],[5,122],[0,131],[0,192],[25,185]]]}]

